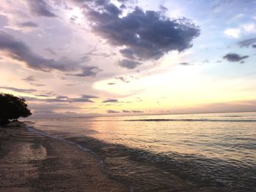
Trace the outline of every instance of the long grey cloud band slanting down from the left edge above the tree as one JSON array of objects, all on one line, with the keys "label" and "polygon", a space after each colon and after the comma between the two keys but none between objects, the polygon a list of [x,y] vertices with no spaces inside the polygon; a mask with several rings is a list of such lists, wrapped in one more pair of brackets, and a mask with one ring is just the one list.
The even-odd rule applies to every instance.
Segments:
[{"label": "long grey cloud band slanting down from the left edge above the tree", "polygon": [[79,74],[70,74],[78,77],[95,76],[101,70],[96,66],[80,66],[81,61],[71,61],[61,58],[59,61],[45,58],[34,53],[24,42],[15,39],[12,35],[0,31],[0,50],[17,61],[23,61],[31,69],[50,72],[53,69],[61,72],[75,72],[80,69]]}]

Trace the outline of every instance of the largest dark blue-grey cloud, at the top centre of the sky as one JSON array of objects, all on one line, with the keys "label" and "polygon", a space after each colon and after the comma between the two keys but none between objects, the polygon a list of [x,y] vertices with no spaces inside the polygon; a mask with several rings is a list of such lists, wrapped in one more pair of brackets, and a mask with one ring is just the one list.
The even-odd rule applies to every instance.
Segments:
[{"label": "largest dark blue-grey cloud, at the top centre of the sky", "polygon": [[[186,18],[171,20],[162,12],[144,12],[140,7],[124,17],[120,17],[121,13],[107,0],[94,1],[84,12],[96,34],[111,45],[125,46],[120,53],[132,60],[157,60],[171,50],[181,52],[192,47],[192,39],[200,34],[199,28]],[[132,69],[138,63],[121,66]]]}]

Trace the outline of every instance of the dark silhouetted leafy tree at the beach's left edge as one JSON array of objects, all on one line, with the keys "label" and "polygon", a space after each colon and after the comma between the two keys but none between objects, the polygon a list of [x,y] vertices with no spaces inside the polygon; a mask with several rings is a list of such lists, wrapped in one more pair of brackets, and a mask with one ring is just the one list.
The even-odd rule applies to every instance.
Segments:
[{"label": "dark silhouetted leafy tree at the beach's left edge", "polygon": [[10,120],[27,118],[32,115],[26,99],[12,94],[0,93],[0,123],[7,124]]}]

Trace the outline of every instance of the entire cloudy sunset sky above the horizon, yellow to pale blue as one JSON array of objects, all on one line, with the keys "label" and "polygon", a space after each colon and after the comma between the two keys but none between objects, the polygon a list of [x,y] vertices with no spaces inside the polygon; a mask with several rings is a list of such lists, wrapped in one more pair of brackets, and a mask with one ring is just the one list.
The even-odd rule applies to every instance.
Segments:
[{"label": "entire cloudy sunset sky above the horizon, yellow to pale blue", "polygon": [[256,0],[2,0],[0,92],[34,118],[256,111]]}]

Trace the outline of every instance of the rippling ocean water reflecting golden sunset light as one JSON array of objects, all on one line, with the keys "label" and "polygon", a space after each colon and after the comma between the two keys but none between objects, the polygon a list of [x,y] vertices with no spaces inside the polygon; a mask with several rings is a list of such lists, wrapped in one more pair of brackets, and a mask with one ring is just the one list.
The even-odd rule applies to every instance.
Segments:
[{"label": "rippling ocean water reflecting golden sunset light", "polygon": [[129,191],[256,191],[256,112],[38,119],[34,128],[89,150]]}]

